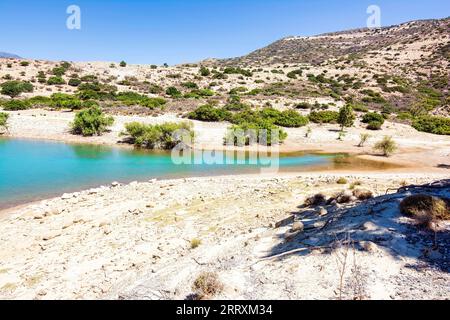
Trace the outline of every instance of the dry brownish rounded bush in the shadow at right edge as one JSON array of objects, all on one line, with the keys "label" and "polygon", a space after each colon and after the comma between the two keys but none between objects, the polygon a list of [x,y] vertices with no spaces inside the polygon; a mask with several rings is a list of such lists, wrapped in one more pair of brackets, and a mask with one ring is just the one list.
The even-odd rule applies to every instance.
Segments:
[{"label": "dry brownish rounded bush in the shadow at right edge", "polygon": [[426,194],[409,196],[400,203],[400,212],[423,225],[429,225],[435,220],[449,220],[450,199]]}]

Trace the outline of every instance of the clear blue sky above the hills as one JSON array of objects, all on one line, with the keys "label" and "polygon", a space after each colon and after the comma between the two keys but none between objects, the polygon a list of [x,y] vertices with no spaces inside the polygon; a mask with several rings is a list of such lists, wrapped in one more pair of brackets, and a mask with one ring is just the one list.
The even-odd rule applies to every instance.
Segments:
[{"label": "clear blue sky above the hills", "polygon": [[[69,5],[81,30],[66,28]],[[290,35],[450,16],[449,0],[0,0],[0,51],[23,57],[176,64],[247,54]]]}]

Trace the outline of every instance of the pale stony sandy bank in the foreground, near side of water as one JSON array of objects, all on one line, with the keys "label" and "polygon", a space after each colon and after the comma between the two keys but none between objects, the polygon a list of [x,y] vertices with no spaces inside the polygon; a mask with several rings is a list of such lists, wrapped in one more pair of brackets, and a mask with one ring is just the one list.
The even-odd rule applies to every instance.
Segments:
[{"label": "pale stony sandy bank in the foreground, near side of water", "polygon": [[[440,251],[430,251],[433,234],[401,217],[399,200],[328,206],[320,215],[299,209],[309,195],[349,189],[336,183],[342,176],[379,201],[390,187],[450,174],[196,178],[65,194],[1,219],[0,298],[184,299],[195,278],[212,271],[225,299],[449,299],[448,233],[438,236]],[[294,219],[305,232],[288,239]],[[289,254],[347,233],[351,249]],[[196,249],[193,239],[201,241]],[[340,286],[336,259],[345,252]]]}]

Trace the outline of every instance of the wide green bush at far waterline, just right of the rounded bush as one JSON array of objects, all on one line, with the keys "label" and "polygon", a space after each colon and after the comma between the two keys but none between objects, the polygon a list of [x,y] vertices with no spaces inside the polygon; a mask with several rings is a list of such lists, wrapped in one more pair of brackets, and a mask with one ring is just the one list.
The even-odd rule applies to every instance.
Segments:
[{"label": "wide green bush at far waterline, just right of the rounded bush", "polygon": [[183,130],[192,139],[194,132],[190,123],[164,123],[161,125],[146,125],[139,122],[131,122],[125,125],[125,132],[121,135],[128,136],[128,142],[140,148],[165,149],[174,148],[183,142],[183,136],[175,136],[177,131]]}]

